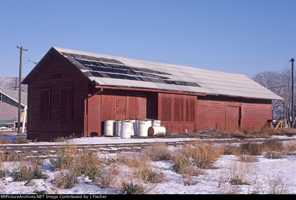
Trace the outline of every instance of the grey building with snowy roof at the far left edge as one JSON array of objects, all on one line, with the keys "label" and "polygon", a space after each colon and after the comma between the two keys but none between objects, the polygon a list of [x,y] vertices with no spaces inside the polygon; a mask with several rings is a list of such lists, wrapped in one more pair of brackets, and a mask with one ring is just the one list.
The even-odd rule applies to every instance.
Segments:
[{"label": "grey building with snowy roof at the far left edge", "polygon": [[[13,124],[18,115],[18,90],[0,88],[0,125]],[[27,105],[27,92],[21,92],[21,110]],[[21,121],[23,119],[21,118]]]}]

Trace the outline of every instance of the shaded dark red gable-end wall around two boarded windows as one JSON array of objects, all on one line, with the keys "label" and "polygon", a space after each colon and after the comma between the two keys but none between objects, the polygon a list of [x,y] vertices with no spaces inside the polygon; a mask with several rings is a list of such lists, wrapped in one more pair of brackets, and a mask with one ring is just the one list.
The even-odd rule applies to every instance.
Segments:
[{"label": "shaded dark red gable-end wall around two boarded windows", "polygon": [[[53,137],[83,134],[84,99],[88,95],[88,80],[62,55],[49,53],[39,63],[39,69],[28,84],[27,137],[36,141],[51,141]],[[61,120],[61,89],[73,88],[72,120]],[[50,119],[41,121],[41,91],[50,88]]]}]

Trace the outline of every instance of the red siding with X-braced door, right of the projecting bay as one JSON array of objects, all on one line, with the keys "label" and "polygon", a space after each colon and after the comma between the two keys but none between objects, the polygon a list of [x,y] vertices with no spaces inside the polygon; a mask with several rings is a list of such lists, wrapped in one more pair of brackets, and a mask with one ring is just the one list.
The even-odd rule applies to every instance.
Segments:
[{"label": "red siding with X-braced door, right of the projecting bay", "polygon": [[[197,127],[199,130],[218,127],[228,129],[227,108],[237,111],[236,126],[243,129],[261,129],[271,119],[271,100],[247,99],[239,97],[197,96]],[[234,124],[232,124],[234,125]],[[234,126],[230,126],[234,128]]]}]

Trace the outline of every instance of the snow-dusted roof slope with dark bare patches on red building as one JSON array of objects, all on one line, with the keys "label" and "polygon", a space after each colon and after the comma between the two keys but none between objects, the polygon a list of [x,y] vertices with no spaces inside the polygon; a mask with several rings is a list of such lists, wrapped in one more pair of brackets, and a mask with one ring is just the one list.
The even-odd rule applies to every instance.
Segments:
[{"label": "snow-dusted roof slope with dark bare patches on red building", "polygon": [[53,48],[98,86],[283,100],[242,74]]}]

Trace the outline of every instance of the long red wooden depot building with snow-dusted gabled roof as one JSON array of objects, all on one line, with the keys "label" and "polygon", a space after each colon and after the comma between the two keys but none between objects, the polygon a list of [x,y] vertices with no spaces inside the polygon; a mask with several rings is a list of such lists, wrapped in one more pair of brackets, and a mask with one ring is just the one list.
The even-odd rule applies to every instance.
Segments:
[{"label": "long red wooden depot building with snow-dusted gabled roof", "polygon": [[104,133],[105,120],[149,118],[176,133],[209,127],[259,129],[270,90],[241,75],[52,47],[23,80],[27,137]]}]

